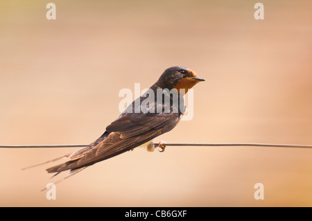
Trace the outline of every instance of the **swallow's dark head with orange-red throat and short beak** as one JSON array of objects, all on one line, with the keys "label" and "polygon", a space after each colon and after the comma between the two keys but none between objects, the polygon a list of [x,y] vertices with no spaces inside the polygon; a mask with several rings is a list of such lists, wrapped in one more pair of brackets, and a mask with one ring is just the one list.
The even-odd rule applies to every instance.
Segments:
[{"label": "swallow's dark head with orange-red throat and short beak", "polygon": [[196,85],[200,81],[205,79],[199,78],[195,71],[187,69],[186,67],[170,67],[164,71],[157,81],[157,85],[162,89],[177,89],[180,93],[180,89],[185,89],[185,93]]}]

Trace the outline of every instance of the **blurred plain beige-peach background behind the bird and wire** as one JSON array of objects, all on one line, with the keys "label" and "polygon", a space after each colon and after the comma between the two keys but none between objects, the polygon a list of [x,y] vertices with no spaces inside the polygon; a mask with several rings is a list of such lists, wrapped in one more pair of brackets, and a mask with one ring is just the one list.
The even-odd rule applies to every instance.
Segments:
[{"label": "blurred plain beige-peach background behind the bird and wire", "polygon": [[[0,1],[0,144],[91,143],[120,89],[181,65],[206,79],[194,117],[155,141],[312,144],[312,2]],[[0,206],[312,206],[312,150],[143,149],[40,192],[78,150],[0,149]],[[254,184],[264,200],[254,200]]]}]

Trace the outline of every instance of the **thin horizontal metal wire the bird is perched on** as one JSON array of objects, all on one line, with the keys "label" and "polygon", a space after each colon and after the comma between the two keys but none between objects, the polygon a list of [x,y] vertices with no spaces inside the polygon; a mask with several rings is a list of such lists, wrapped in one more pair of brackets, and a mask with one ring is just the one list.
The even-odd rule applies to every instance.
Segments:
[{"label": "thin horizontal metal wire the bird is perched on", "polygon": [[[312,145],[297,144],[275,144],[275,143],[164,143],[165,146],[256,146],[271,148],[312,148]],[[87,144],[65,144],[65,145],[0,145],[0,148],[81,148]]]}]

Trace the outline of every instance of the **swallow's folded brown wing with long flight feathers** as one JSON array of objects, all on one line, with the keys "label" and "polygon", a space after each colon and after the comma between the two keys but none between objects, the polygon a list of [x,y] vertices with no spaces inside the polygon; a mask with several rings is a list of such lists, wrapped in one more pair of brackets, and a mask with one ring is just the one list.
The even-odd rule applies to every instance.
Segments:
[{"label": "swallow's folded brown wing with long flight feathers", "polygon": [[75,170],[136,148],[171,130],[180,116],[168,114],[126,114],[106,127],[105,139],[71,154],[71,160],[46,169],[48,173]]}]

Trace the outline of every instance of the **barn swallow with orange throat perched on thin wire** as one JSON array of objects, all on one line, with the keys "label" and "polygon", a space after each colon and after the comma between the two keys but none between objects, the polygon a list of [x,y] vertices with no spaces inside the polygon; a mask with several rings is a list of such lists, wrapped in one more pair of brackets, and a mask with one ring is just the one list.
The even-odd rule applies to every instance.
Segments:
[{"label": "barn swallow with orange throat perched on thin wire", "polygon": [[[140,145],[146,144],[149,150],[153,150],[157,146],[154,145],[153,139],[172,130],[183,116],[185,110],[183,95],[201,81],[205,80],[199,78],[191,69],[185,67],[166,69],[146,94],[133,101],[106,127],[105,132],[96,141],[76,152],[57,158],[67,158],[68,161],[47,168],[46,171],[58,175],[64,170],[70,170],[63,178],[66,179],[87,166],[133,150]],[[157,95],[159,91],[162,91],[162,99],[151,96]],[[144,102],[146,98],[151,102]],[[174,98],[177,98],[177,102],[174,102]],[[159,143],[162,150],[165,147],[164,143]]]}]

